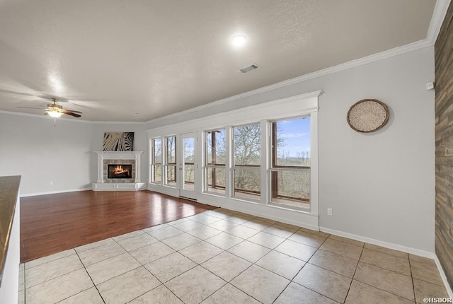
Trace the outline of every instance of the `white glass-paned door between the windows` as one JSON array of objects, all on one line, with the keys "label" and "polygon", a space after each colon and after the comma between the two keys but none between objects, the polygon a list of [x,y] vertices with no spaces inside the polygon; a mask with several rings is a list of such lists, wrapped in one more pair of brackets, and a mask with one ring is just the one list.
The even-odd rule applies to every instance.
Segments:
[{"label": "white glass-paned door between the windows", "polygon": [[180,196],[188,199],[197,199],[195,174],[197,173],[196,154],[197,137],[195,133],[181,134],[180,136]]}]

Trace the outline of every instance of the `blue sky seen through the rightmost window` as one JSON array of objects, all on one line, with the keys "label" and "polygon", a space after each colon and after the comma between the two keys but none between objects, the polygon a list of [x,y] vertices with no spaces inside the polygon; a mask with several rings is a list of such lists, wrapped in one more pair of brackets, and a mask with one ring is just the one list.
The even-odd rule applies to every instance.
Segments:
[{"label": "blue sky seen through the rightmost window", "polygon": [[[289,156],[296,157],[297,153],[310,152],[310,118],[297,118],[277,122],[279,135],[285,139],[282,150]],[[280,149],[279,149],[280,151]]]}]

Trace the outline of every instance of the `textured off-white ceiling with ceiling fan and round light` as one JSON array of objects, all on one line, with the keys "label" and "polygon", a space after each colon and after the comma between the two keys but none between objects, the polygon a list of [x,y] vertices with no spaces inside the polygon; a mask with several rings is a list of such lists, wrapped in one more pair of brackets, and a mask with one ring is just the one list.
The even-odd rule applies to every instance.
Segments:
[{"label": "textured off-white ceiling with ceiling fan and round light", "polygon": [[[0,110],[144,122],[424,40],[435,0],[0,0]],[[233,47],[243,33],[248,43]],[[260,69],[242,74],[243,66]],[[69,118],[69,117],[68,117]],[[71,117],[72,119],[72,117]]]}]

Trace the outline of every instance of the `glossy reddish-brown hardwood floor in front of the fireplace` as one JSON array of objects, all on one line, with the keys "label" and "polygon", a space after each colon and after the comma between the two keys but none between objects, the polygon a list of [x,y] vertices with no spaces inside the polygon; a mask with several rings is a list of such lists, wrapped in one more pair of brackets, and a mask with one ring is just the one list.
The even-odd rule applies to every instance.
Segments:
[{"label": "glossy reddish-brown hardwood floor in front of the fireplace", "polygon": [[149,191],[21,198],[21,262],[200,214],[214,206]]}]

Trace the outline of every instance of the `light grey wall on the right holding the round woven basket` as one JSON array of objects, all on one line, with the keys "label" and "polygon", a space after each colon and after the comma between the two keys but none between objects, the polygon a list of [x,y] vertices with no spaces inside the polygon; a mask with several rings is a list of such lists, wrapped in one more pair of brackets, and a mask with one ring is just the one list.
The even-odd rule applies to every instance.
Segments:
[{"label": "light grey wall on the right holding the round woven basket", "polygon": [[[319,103],[319,225],[386,245],[434,252],[434,47],[156,119],[147,129],[323,90]],[[377,98],[389,123],[372,134],[348,126],[352,104]],[[326,209],[333,209],[333,216]],[[421,253],[421,252],[420,252]]]}]

